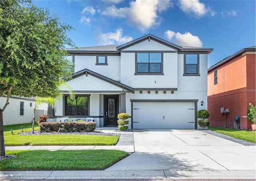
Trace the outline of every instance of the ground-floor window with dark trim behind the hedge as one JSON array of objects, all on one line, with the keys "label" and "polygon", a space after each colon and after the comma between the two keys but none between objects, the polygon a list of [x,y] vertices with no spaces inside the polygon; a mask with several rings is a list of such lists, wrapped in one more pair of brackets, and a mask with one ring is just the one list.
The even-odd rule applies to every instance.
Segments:
[{"label": "ground-floor window with dark trim behind the hedge", "polygon": [[65,116],[88,116],[89,96],[65,97]]}]

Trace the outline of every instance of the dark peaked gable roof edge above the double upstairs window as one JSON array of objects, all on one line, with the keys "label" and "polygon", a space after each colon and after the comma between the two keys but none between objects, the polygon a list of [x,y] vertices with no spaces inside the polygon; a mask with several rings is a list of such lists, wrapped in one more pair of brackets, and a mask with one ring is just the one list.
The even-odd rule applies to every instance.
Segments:
[{"label": "dark peaked gable roof edge above the double upstairs window", "polygon": [[135,45],[135,44],[137,44],[137,43],[140,43],[140,42],[142,42],[142,41],[145,41],[146,39],[149,39],[149,40],[150,40],[150,39],[153,39],[154,41],[157,41],[158,43],[164,44],[164,45],[166,45],[166,46],[168,46],[168,47],[171,47],[171,48],[173,48],[173,49],[182,50],[182,47],[181,47],[181,46],[175,45],[174,43],[171,43],[171,42],[169,42],[169,41],[166,41],[166,40],[164,40],[164,39],[162,39],[162,38],[160,38],[160,37],[157,37],[157,36],[155,36],[155,35],[152,35],[152,34],[147,34],[147,35],[144,35],[144,36],[142,36],[142,37],[140,37],[140,38],[134,39],[133,41],[130,41],[130,42],[128,42],[128,43],[125,43],[125,44],[123,44],[123,45],[120,45],[120,46],[116,47],[116,49],[117,49],[117,50],[122,50],[122,49],[128,48],[128,47],[130,47],[130,46],[132,46],[132,45]]}]

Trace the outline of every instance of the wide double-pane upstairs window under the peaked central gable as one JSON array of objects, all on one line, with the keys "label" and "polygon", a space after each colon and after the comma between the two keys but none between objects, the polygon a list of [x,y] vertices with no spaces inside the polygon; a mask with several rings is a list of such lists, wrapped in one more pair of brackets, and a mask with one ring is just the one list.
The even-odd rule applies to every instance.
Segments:
[{"label": "wide double-pane upstairs window under the peaked central gable", "polygon": [[162,53],[136,53],[135,75],[163,75]]}]

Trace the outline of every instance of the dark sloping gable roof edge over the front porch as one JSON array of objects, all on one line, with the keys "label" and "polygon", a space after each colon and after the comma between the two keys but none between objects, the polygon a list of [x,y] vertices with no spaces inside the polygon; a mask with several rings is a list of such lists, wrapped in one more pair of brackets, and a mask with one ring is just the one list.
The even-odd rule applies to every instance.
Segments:
[{"label": "dark sloping gable roof edge over the front porch", "polygon": [[82,75],[87,75],[87,74],[92,75],[92,76],[94,76],[94,77],[96,77],[96,78],[98,78],[98,79],[101,79],[101,80],[103,80],[103,81],[106,81],[106,82],[108,82],[108,83],[110,83],[110,84],[112,84],[112,85],[115,85],[115,86],[117,86],[117,87],[120,87],[120,88],[122,88],[122,89],[126,89],[128,92],[133,92],[133,91],[134,91],[134,89],[133,89],[132,87],[129,87],[129,86],[127,86],[127,85],[124,85],[124,84],[122,84],[122,83],[120,83],[120,82],[118,82],[118,81],[114,81],[113,79],[110,79],[110,78],[108,78],[108,77],[105,77],[104,75],[100,75],[100,74],[98,74],[98,73],[96,73],[96,72],[94,72],[94,71],[91,71],[91,70],[89,70],[89,69],[83,69],[83,70],[81,70],[81,71],[79,71],[79,72],[73,73],[73,74],[72,74],[72,78],[73,78],[73,79],[76,79],[77,77],[80,77],[80,76],[82,76]]}]

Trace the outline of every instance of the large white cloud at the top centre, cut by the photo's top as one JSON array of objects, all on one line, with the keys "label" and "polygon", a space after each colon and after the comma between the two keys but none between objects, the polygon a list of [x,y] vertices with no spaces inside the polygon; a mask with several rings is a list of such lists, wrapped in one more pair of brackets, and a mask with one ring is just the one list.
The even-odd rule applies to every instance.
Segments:
[{"label": "large white cloud at the top centre, cut by the photo's top", "polygon": [[102,12],[104,16],[112,18],[126,18],[130,26],[144,32],[149,28],[158,26],[161,23],[159,14],[173,4],[170,0],[136,0],[129,3],[129,7],[116,8],[112,5]]}]

